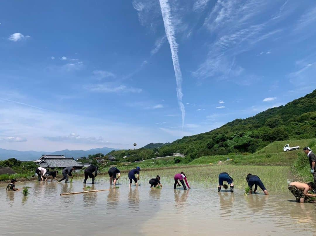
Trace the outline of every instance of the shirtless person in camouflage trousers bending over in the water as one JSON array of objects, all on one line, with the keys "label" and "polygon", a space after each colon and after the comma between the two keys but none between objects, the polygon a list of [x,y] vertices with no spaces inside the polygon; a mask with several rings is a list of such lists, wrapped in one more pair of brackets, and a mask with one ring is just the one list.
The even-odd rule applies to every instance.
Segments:
[{"label": "shirtless person in camouflage trousers bending over in the water", "polygon": [[304,203],[305,200],[308,200],[308,197],[316,197],[316,194],[309,194],[308,191],[316,189],[316,185],[313,182],[308,184],[301,182],[291,182],[288,185],[288,189],[293,193],[296,198],[296,202]]}]

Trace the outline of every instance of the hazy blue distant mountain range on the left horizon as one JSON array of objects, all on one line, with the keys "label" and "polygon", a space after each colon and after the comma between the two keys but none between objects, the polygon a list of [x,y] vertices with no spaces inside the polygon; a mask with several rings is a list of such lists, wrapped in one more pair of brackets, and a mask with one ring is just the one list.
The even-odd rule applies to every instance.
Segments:
[{"label": "hazy blue distant mountain range on the left horizon", "polygon": [[0,160],[6,160],[8,158],[16,158],[21,161],[30,161],[30,160],[36,160],[43,154],[49,154],[49,155],[66,155],[66,157],[82,157],[82,156],[88,156],[93,155],[96,153],[103,153],[106,155],[107,153],[111,152],[112,150],[119,150],[115,148],[94,148],[90,150],[61,150],[61,151],[55,151],[55,152],[47,152],[47,151],[16,151],[16,150],[7,150],[0,148]]}]

